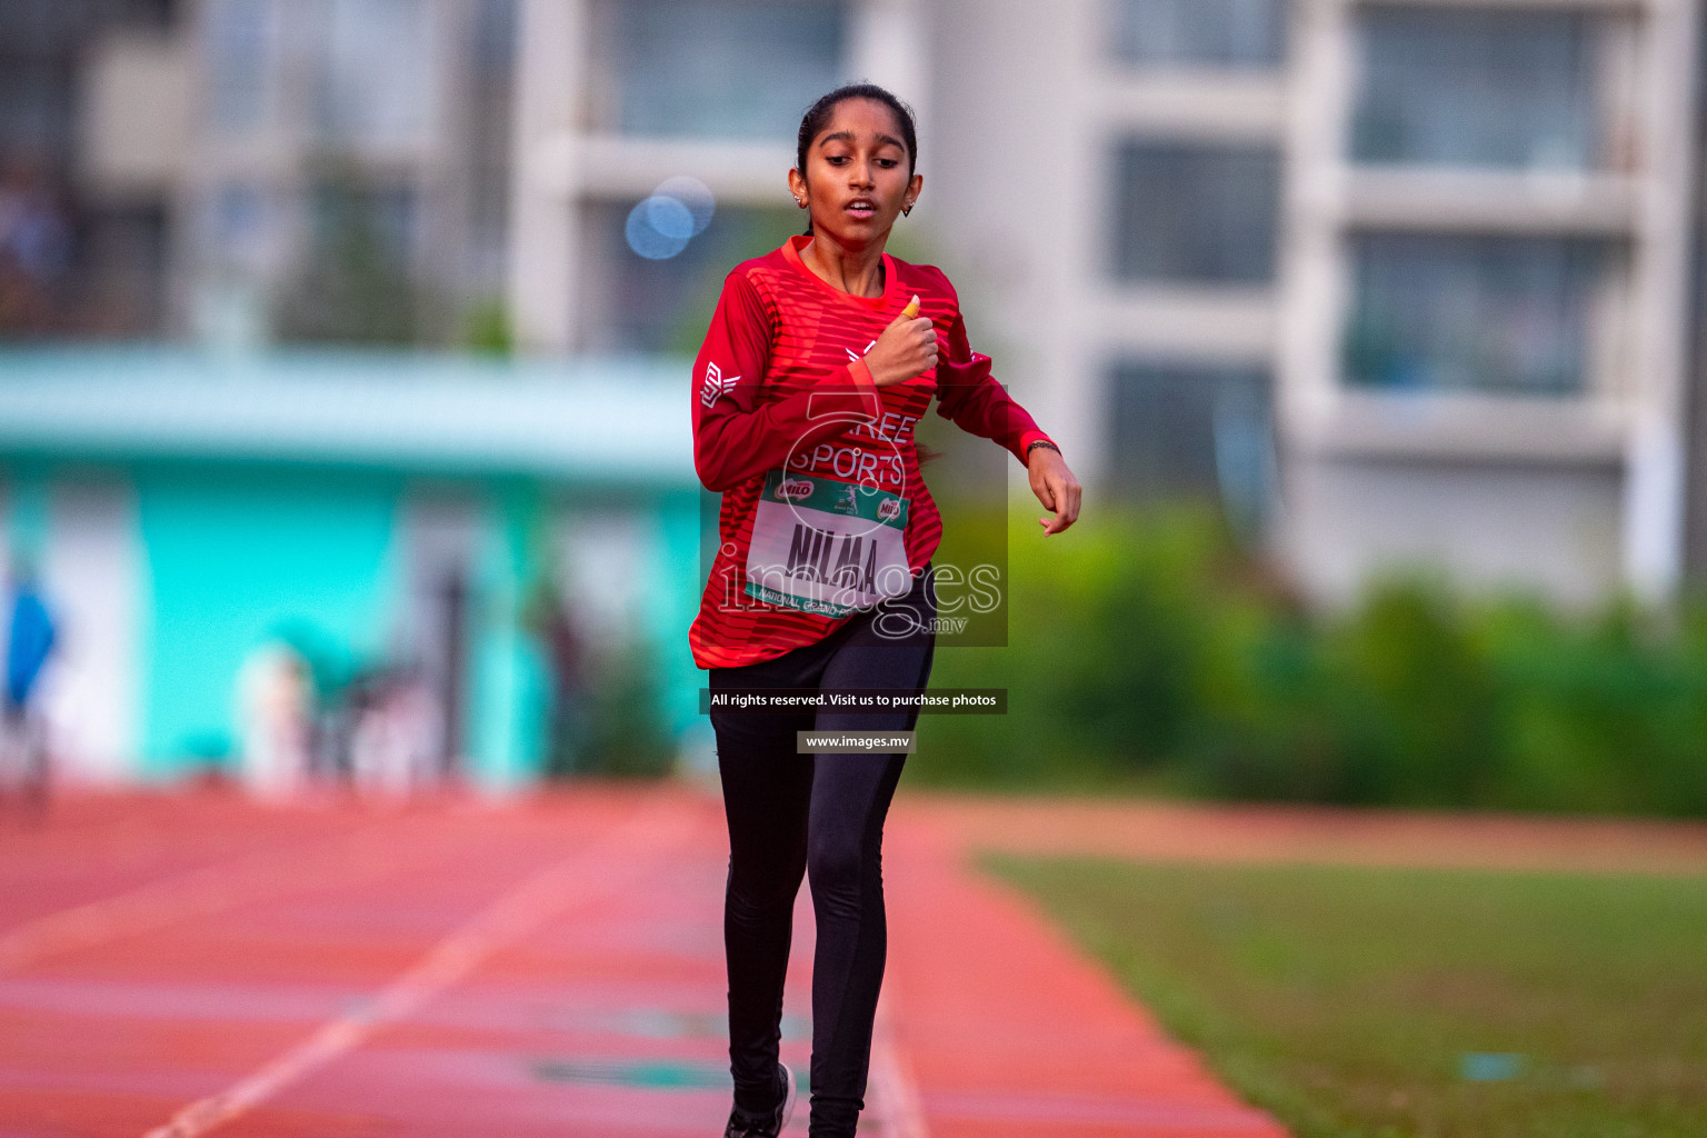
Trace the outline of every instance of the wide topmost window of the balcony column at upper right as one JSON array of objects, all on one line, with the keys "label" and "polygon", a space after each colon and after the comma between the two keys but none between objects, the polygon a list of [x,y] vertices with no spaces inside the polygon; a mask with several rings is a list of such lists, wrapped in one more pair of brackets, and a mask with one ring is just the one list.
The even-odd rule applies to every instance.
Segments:
[{"label": "wide topmost window of the balcony column at upper right", "polygon": [[1352,157],[1518,169],[1605,162],[1588,12],[1362,10]]}]

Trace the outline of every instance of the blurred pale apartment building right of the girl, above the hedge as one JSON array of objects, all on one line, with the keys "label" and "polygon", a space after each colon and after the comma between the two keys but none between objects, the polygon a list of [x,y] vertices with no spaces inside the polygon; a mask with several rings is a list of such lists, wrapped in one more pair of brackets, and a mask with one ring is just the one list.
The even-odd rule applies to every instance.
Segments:
[{"label": "blurred pale apartment building right of the girl, above the hedge", "polygon": [[1671,590],[1693,3],[935,14],[935,218],[1092,491],[1261,514],[1326,601]]}]

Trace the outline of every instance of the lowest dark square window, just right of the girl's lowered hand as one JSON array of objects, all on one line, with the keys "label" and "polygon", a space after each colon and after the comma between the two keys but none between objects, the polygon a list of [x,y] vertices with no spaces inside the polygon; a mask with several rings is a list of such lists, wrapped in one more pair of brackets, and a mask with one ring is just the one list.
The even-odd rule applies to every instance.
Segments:
[{"label": "lowest dark square window, just right of the girl's lowered hand", "polygon": [[1246,532],[1273,495],[1270,377],[1255,367],[1127,362],[1111,375],[1110,481],[1135,498],[1209,498]]}]

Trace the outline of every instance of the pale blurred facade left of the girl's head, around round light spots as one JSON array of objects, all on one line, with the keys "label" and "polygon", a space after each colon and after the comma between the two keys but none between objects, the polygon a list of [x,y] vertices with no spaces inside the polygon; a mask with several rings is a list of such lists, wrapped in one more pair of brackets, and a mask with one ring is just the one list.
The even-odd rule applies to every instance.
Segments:
[{"label": "pale blurred facade left of the girl's head, around round light spots", "polygon": [[[819,94],[865,77],[930,119],[923,10],[522,0],[509,293],[522,341],[693,355],[724,275],[802,225],[787,171]],[[715,200],[710,227],[667,256],[635,256],[632,206],[683,174]]]}]

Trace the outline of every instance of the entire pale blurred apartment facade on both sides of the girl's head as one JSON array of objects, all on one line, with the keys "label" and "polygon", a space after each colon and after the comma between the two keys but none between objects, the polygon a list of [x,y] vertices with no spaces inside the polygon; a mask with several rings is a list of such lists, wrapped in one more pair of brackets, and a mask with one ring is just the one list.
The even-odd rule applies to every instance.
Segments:
[{"label": "entire pale blurred apartment facade on both sides of the girl's head", "polygon": [[645,266],[623,212],[681,172],[775,212],[790,109],[864,75],[922,111],[920,247],[1099,496],[1212,496],[1325,601],[1678,584],[1690,0],[522,7],[534,348],[691,348],[635,314],[691,280],[703,317],[737,254]]}]

